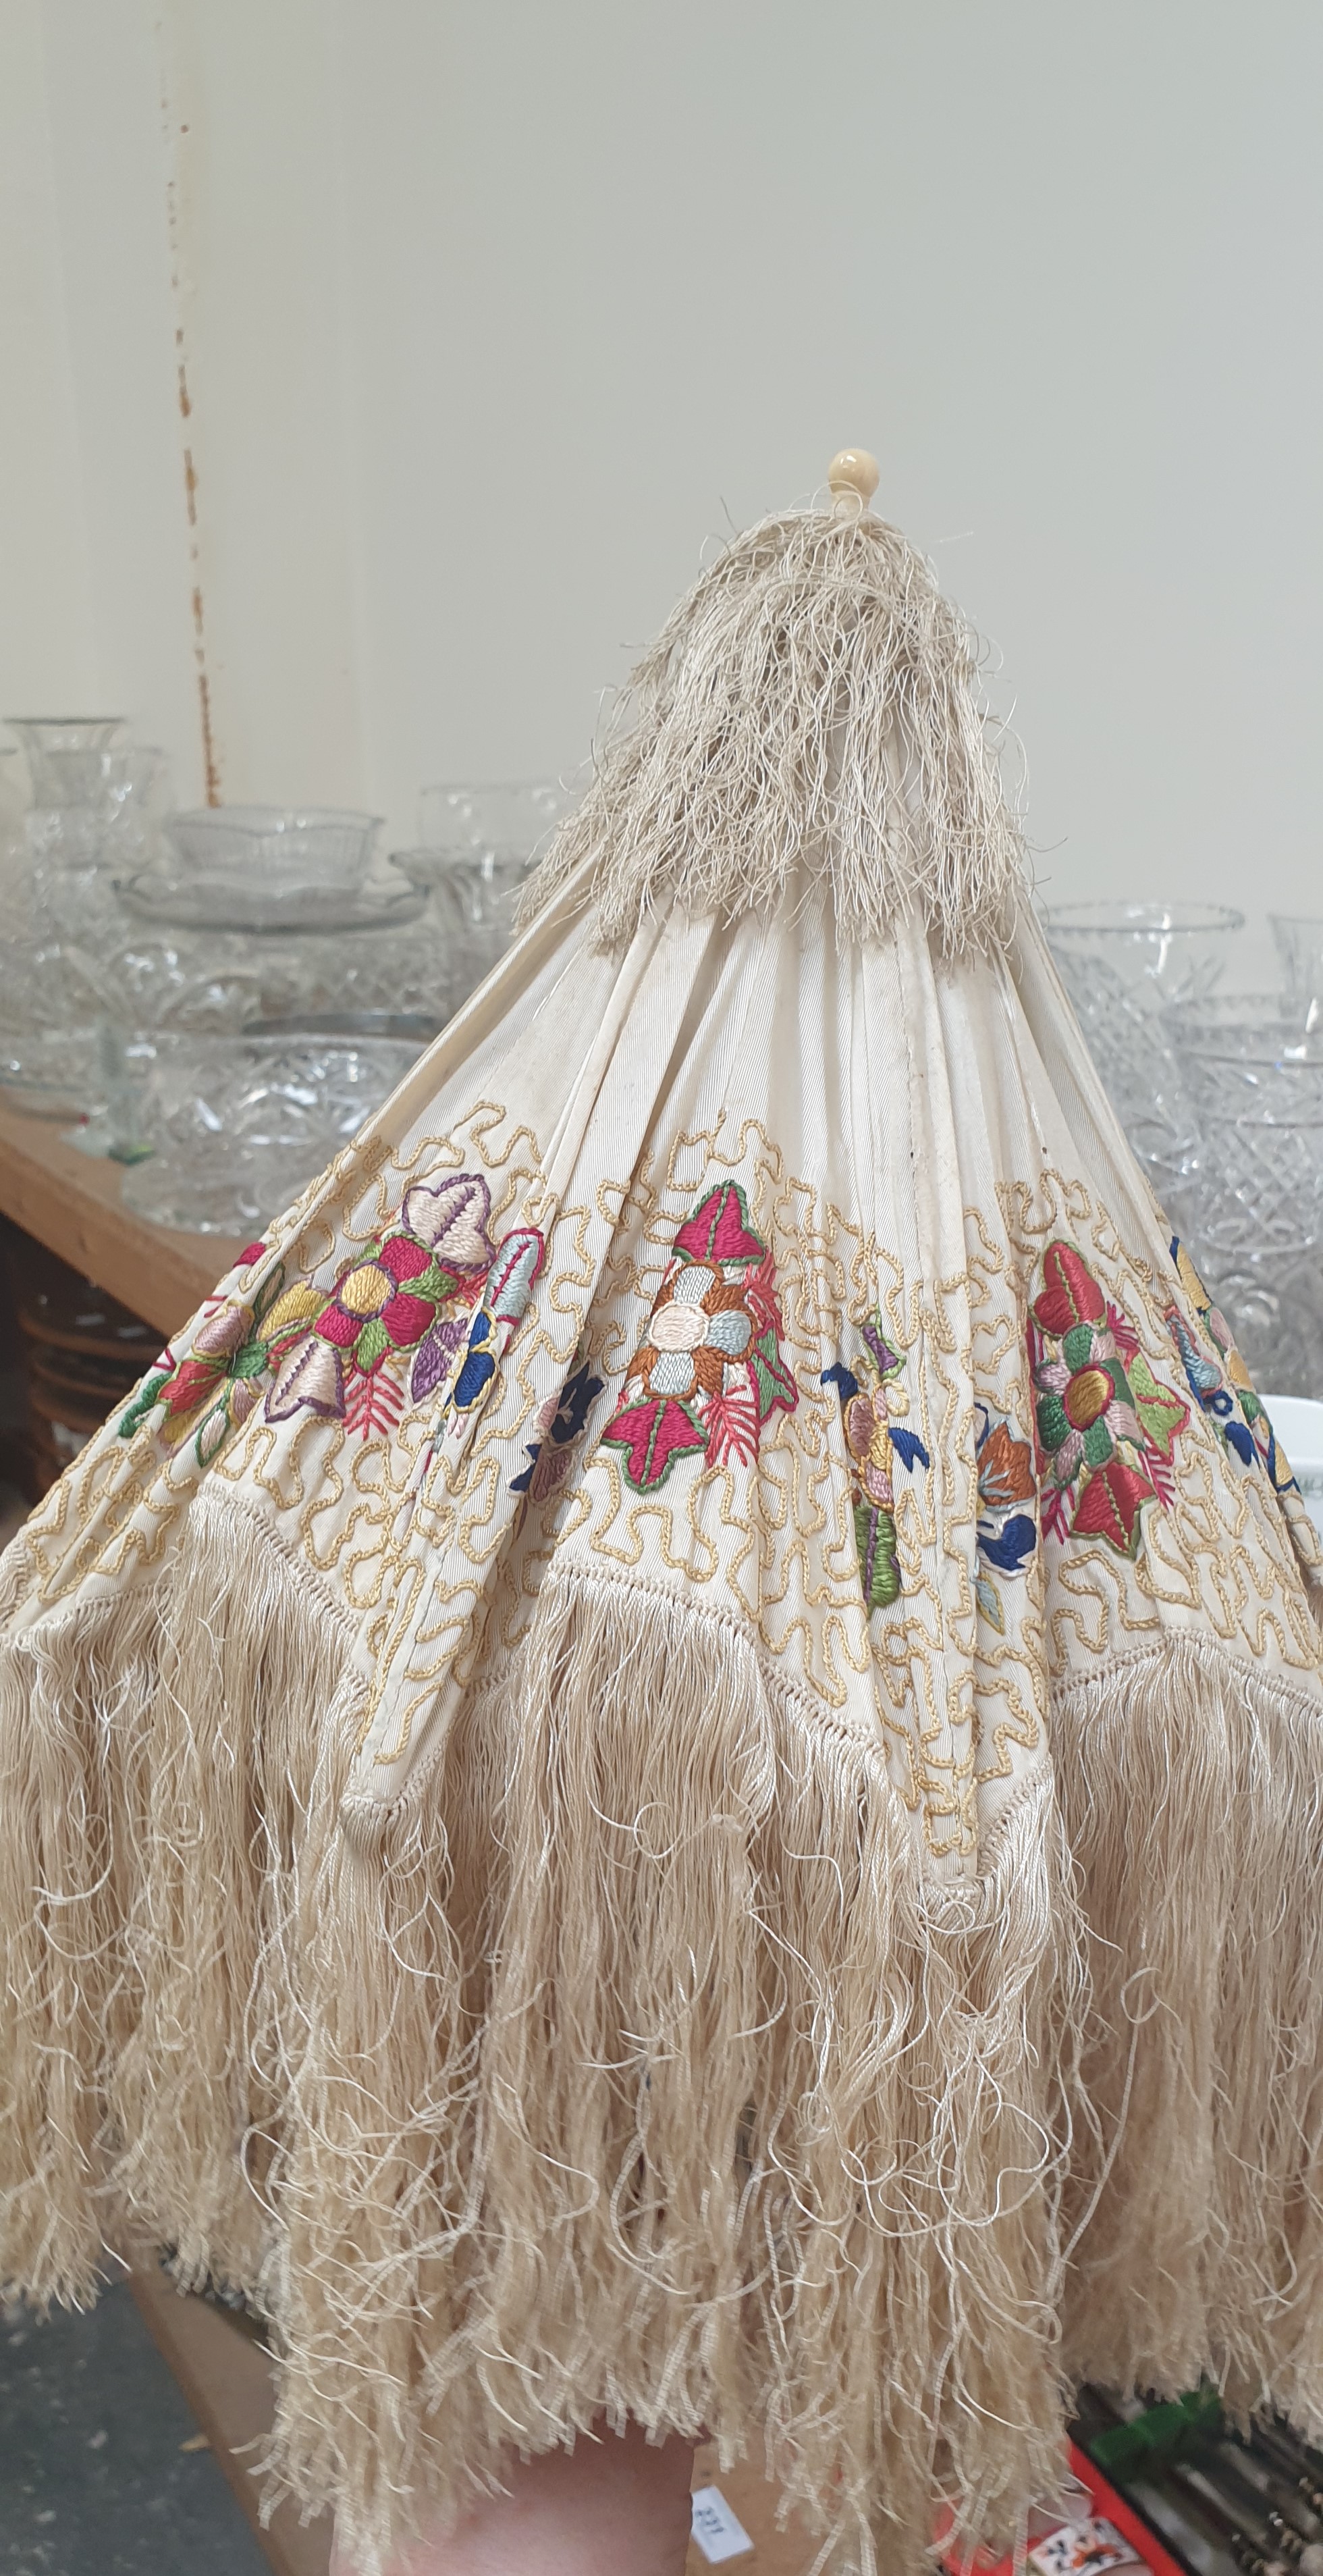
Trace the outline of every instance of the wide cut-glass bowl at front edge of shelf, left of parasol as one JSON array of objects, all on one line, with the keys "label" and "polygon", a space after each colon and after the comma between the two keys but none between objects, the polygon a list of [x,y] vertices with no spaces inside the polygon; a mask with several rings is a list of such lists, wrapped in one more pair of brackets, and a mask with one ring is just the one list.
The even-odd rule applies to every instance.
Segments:
[{"label": "wide cut-glass bowl at front edge of shelf, left of parasol", "polygon": [[291,1206],[417,1061],[414,1038],[165,1033],[142,1066],[149,1159],[124,1203],[185,1234],[252,1234]]}]

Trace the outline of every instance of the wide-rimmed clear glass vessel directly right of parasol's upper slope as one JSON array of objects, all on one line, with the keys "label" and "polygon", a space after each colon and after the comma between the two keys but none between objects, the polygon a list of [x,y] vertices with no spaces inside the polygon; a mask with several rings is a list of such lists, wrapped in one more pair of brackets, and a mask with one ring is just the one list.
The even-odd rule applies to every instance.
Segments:
[{"label": "wide-rimmed clear glass vessel directly right of parasol's upper slope", "polygon": [[1179,1200],[1197,1151],[1166,1012],[1215,989],[1243,920],[1230,904],[1050,904],[1042,914],[1089,1054],[1163,1206]]}]

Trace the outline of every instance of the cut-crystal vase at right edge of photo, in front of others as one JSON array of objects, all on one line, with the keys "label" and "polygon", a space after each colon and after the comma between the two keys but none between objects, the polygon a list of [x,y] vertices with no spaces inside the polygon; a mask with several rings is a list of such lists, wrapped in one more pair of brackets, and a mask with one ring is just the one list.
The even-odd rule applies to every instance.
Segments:
[{"label": "cut-crystal vase at right edge of photo, in front of others", "polygon": [[1277,994],[1169,1012],[1199,1133],[1194,1260],[1259,1386],[1323,1394],[1323,1033]]}]

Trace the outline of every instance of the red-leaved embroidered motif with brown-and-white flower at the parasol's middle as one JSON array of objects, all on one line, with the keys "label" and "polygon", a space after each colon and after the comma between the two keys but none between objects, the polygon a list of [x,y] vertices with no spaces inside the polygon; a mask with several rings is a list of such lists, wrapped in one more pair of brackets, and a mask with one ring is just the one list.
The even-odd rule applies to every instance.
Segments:
[{"label": "red-leaved embroidered motif with brown-and-white flower at the parasol's middle", "polygon": [[708,1466],[757,1458],[764,1422],[798,1404],[780,1334],[772,1255],[749,1224],[744,1190],[726,1180],[672,1242],[649,1329],[602,1432],[625,1450],[636,1492],[664,1484],[687,1450]]}]

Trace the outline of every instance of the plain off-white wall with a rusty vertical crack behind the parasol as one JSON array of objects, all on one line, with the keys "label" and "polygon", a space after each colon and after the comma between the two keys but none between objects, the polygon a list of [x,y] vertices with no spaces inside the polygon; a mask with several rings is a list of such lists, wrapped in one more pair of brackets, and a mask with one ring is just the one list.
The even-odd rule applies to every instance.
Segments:
[{"label": "plain off-white wall with a rusty vertical crack behind the parasol", "polygon": [[1323,909],[1315,0],[0,41],[0,703],[124,706],[198,796],[196,582],[221,791],[412,837],[427,778],[574,765],[703,541],[862,440],[999,649],[1048,891]]}]

